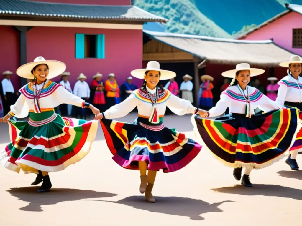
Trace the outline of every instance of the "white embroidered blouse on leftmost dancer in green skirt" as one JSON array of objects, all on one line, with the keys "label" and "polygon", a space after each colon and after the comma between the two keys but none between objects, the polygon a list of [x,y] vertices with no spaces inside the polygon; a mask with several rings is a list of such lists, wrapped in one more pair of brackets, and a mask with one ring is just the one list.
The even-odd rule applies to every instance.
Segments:
[{"label": "white embroidered blouse on leftmost dancer in green skirt", "polygon": [[[42,83],[43,84],[43,83]],[[37,89],[42,88],[42,84],[37,85]],[[85,101],[72,93],[69,93],[61,84],[46,80],[44,88],[40,94],[39,106],[34,102],[34,85],[28,83],[23,86],[18,100],[11,105],[9,114],[17,118],[25,118],[28,112],[39,113],[41,111],[50,111],[60,104],[70,104],[78,107],[84,107]]]}]

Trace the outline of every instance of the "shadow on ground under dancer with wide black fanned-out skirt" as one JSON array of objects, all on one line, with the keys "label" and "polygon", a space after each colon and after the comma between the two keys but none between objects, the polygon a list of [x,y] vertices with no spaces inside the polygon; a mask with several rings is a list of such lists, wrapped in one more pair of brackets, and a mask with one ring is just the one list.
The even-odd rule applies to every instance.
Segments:
[{"label": "shadow on ground under dancer with wide black fanned-out skirt", "polygon": [[243,185],[235,185],[232,187],[213,188],[211,190],[237,195],[262,195],[302,200],[302,190],[300,189],[275,184],[253,184],[253,186],[254,187],[244,187]]}]

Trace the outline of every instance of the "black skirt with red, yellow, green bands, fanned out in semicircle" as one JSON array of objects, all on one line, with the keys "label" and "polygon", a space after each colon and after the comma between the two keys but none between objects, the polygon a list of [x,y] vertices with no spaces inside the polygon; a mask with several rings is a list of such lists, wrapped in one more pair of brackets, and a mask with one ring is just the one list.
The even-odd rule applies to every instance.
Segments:
[{"label": "black skirt with red, yellow, green bands, fanned out in semicircle", "polygon": [[265,168],[284,158],[301,128],[297,108],[254,115],[230,114],[214,119],[192,116],[201,145],[232,168]]}]

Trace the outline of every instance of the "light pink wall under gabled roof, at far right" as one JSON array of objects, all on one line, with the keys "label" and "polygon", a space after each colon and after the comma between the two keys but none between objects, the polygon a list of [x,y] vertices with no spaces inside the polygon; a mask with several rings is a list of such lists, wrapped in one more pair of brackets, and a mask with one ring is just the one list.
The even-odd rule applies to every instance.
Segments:
[{"label": "light pink wall under gabled roof, at far right", "polygon": [[294,28],[302,28],[302,15],[296,12],[290,12],[240,39],[267,40],[273,38],[277,45],[288,51],[302,55],[302,48],[292,48]]}]

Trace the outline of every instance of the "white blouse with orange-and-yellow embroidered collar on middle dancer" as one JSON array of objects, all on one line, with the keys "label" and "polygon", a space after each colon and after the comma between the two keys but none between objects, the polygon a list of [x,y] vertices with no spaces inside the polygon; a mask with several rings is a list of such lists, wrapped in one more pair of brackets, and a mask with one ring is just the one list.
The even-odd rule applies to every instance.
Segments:
[{"label": "white blouse with orange-and-yellow embroidered collar on middle dancer", "polygon": [[[156,93],[156,89],[151,90],[147,87],[147,90],[151,94]],[[151,116],[153,105],[146,90],[134,90],[127,99],[109,108],[104,112],[104,115],[108,119],[121,118],[130,113],[136,106],[140,117],[149,118]],[[177,115],[194,114],[197,111],[197,108],[190,101],[173,95],[167,89],[162,89],[162,91],[159,89],[157,113],[160,118],[164,116],[167,106]]]}]

